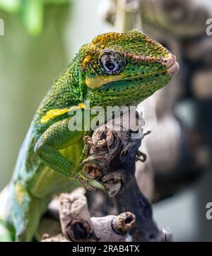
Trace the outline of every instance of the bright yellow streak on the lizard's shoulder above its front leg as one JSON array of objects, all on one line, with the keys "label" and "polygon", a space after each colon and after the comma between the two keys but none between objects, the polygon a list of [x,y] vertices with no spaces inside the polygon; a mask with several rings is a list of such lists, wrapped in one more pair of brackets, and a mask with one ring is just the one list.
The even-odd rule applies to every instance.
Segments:
[{"label": "bright yellow streak on the lizard's shoulder above its front leg", "polygon": [[69,108],[49,110],[47,114],[41,118],[40,123],[45,124],[50,120],[54,119],[55,117],[59,117],[60,115],[64,115],[70,111],[81,110],[85,108],[86,108],[86,105],[84,103],[79,103],[78,106],[71,106]]}]

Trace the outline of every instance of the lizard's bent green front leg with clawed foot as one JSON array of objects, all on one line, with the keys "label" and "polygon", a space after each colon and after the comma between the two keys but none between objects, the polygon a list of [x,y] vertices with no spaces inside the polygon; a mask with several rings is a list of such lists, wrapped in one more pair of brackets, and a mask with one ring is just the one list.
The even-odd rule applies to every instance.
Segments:
[{"label": "lizard's bent green front leg with clawed foot", "polygon": [[59,152],[59,149],[64,149],[83,139],[84,132],[70,131],[68,124],[68,118],[52,124],[37,140],[35,153],[49,168],[67,178],[79,180],[89,189],[88,180],[81,174],[81,161],[86,152],[82,152],[78,163],[72,163]]}]

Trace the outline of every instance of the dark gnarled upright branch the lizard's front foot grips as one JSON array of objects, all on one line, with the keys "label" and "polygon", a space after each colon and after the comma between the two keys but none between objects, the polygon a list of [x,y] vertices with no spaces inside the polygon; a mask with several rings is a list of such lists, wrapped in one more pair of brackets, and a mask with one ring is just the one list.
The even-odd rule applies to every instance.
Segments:
[{"label": "dark gnarled upright branch the lizard's front foot grips", "polygon": [[[129,127],[134,122],[138,124],[139,115],[136,120],[129,120]],[[114,123],[121,128],[119,131],[114,129]],[[135,133],[123,128],[124,125],[116,124],[114,119],[96,129],[91,138],[85,139],[90,147],[90,156],[85,162],[86,173],[115,198],[119,213],[131,211],[135,214],[136,224],[130,231],[134,240],[166,240],[165,233],[153,221],[151,204],[139,190],[135,178],[136,153],[144,135],[141,132],[139,139],[132,139]],[[137,132],[139,134],[139,130]]]}]

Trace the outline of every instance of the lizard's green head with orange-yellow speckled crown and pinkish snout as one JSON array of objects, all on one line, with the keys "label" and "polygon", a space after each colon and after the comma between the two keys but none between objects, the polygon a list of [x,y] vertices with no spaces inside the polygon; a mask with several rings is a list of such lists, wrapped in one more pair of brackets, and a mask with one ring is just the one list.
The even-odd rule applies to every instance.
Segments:
[{"label": "lizard's green head with orange-yellow speckled crown and pinkish snout", "polygon": [[92,105],[137,105],[179,70],[175,56],[141,30],[98,35],[79,56]]}]

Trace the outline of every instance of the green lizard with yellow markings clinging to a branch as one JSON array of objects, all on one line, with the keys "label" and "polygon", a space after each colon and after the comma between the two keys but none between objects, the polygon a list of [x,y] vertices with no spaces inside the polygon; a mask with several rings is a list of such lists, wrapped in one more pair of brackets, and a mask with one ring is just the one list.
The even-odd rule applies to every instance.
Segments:
[{"label": "green lizard with yellow markings clinging to a branch", "polygon": [[[140,30],[106,33],[83,45],[42,100],[21,146],[9,184],[8,228],[30,241],[52,196],[83,176],[83,137],[69,112],[99,105],[138,105],[179,70],[175,56]],[[83,110],[85,111],[85,110]]]}]

